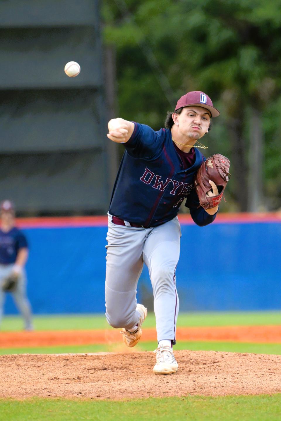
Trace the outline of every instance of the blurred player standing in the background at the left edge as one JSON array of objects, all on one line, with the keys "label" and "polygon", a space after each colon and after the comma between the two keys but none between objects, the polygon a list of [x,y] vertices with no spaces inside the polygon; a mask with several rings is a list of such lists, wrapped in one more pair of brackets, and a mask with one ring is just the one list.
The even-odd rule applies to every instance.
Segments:
[{"label": "blurred player standing in the background at the left edge", "polygon": [[28,257],[27,239],[15,226],[15,210],[10,200],[0,204],[0,323],[6,292],[24,318],[25,330],[33,330],[30,304],[26,295],[24,266]]}]

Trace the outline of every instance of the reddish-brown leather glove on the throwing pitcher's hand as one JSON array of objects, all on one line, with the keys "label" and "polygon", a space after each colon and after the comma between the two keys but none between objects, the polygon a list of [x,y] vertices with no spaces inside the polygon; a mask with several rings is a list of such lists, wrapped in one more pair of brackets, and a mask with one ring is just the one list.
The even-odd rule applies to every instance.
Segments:
[{"label": "reddish-brown leather glove on the throwing pitcher's hand", "polygon": [[[230,179],[228,172],[230,160],[220,154],[214,154],[207,158],[195,174],[194,184],[200,205],[204,209],[210,209],[217,206],[222,200],[227,181]],[[209,180],[214,181],[219,194],[217,196],[208,197],[206,193],[211,190]]]}]

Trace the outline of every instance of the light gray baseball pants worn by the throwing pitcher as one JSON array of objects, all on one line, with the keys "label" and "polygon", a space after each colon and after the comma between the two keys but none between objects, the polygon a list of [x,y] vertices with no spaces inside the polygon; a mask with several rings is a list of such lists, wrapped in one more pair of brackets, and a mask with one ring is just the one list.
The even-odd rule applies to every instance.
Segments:
[{"label": "light gray baseball pants worn by the throwing pitcher", "polygon": [[[105,302],[107,322],[113,328],[138,324],[136,286],[147,265],[153,287],[158,342],[175,344],[179,297],[176,267],[181,230],[178,218],[151,228],[115,225],[108,215]],[[125,221],[126,224],[128,224]]]}]

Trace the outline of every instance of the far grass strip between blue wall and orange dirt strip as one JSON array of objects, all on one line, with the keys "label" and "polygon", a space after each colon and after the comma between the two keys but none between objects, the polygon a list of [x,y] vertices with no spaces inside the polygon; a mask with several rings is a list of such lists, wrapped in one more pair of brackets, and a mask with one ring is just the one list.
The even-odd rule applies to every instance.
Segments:
[{"label": "far grass strip between blue wall and orange dirt strip", "polygon": [[[34,317],[36,330],[83,330],[110,329],[104,314],[55,314]],[[202,312],[179,313],[177,326],[236,326],[281,325],[281,312]],[[150,312],[145,320],[146,328],[155,327],[155,317]],[[3,318],[1,330],[21,330],[19,316]]]}]

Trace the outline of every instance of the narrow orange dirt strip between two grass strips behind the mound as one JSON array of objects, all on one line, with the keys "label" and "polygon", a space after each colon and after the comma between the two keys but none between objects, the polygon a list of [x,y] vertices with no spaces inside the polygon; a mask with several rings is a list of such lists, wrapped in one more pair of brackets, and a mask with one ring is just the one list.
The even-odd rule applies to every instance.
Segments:
[{"label": "narrow orange dirt strip between two grass strips behind the mound", "polygon": [[[54,330],[0,332],[0,348],[113,344],[122,340],[120,330]],[[143,329],[142,342],[156,341],[155,329]],[[281,344],[281,326],[229,326],[178,328],[177,341],[230,341]]]}]

